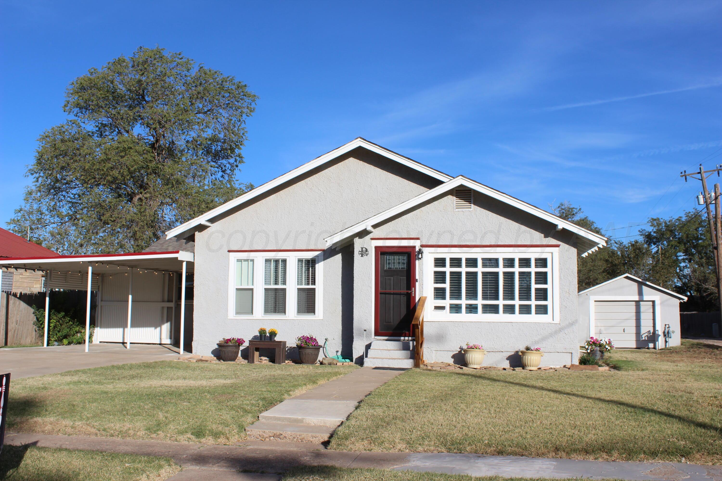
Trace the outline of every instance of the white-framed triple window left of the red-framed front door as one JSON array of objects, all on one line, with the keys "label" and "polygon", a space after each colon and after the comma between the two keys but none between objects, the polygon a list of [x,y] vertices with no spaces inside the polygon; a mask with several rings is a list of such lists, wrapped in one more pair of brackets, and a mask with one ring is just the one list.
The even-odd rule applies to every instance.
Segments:
[{"label": "white-framed triple window left of the red-framed front door", "polygon": [[231,252],[228,316],[321,318],[323,252]]}]

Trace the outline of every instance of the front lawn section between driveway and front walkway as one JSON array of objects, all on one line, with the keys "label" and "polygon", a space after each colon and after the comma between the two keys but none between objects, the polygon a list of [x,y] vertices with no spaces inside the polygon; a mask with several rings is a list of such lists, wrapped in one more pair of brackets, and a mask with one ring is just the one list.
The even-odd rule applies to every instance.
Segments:
[{"label": "front lawn section between driveway and front walkway", "polygon": [[230,444],[269,407],[352,369],[159,361],[17,379],[7,428]]}]

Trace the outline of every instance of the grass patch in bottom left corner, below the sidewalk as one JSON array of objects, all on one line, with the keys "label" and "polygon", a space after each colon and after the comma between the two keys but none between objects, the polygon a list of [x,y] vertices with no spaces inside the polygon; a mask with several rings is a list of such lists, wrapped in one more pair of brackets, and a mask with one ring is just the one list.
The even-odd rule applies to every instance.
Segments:
[{"label": "grass patch in bottom left corner, below the sidewalk", "polygon": [[162,481],[181,471],[170,458],[4,446],[0,480]]}]

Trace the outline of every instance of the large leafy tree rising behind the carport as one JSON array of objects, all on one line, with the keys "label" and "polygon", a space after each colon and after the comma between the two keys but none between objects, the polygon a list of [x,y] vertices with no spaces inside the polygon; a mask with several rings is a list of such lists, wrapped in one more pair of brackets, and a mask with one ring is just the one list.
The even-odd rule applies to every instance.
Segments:
[{"label": "large leafy tree rising behind the carport", "polygon": [[66,91],[43,132],[25,206],[9,225],[62,253],[142,250],[230,200],[256,95],[181,53],[138,48]]}]

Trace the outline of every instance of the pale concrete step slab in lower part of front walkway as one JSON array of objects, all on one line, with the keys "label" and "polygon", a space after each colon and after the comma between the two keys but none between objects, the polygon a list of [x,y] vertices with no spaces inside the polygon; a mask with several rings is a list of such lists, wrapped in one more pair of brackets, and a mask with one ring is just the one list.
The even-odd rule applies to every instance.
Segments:
[{"label": "pale concrete step slab in lower part of front walkway", "polygon": [[330,426],[344,422],[356,408],[353,401],[285,400],[261,413],[258,419],[272,423],[295,423]]}]

